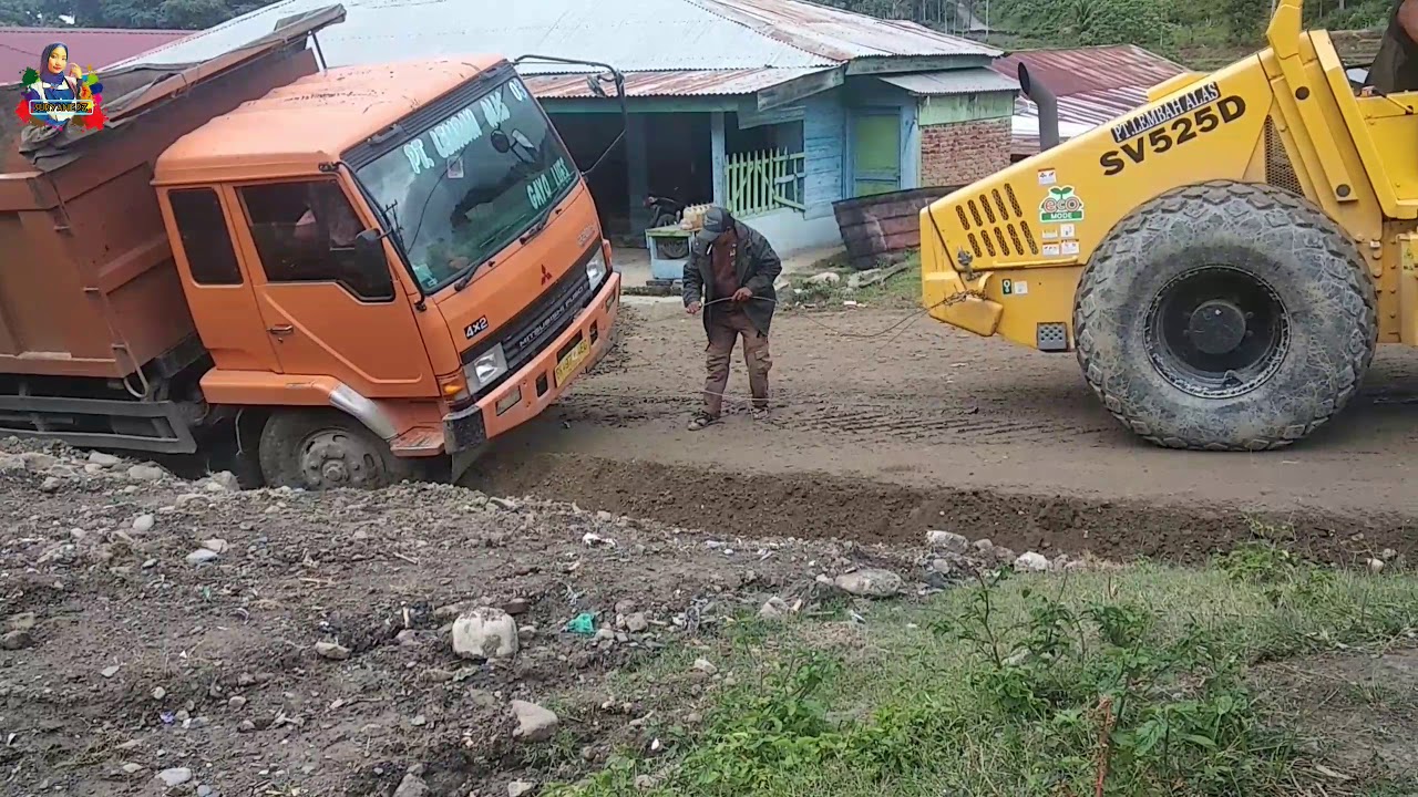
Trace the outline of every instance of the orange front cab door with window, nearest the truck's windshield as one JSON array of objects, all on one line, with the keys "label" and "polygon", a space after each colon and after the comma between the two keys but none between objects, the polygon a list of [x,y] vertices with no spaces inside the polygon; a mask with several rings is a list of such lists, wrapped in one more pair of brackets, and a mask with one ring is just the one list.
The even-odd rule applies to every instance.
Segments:
[{"label": "orange front cab door with window, nearest the truck's windshield", "polygon": [[437,396],[414,311],[386,265],[362,271],[367,227],[333,179],[238,186],[257,303],[281,370],[376,397]]}]

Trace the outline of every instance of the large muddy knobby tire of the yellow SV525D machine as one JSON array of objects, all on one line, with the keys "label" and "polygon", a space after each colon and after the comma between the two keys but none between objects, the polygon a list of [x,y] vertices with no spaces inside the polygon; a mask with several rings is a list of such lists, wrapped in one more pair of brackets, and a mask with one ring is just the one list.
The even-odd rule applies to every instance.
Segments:
[{"label": "large muddy knobby tire of the yellow SV525D machine", "polygon": [[1143,438],[1263,451],[1354,396],[1378,340],[1374,308],[1358,248],[1319,208],[1212,182],[1161,194],[1107,234],[1079,281],[1073,338],[1093,391]]}]

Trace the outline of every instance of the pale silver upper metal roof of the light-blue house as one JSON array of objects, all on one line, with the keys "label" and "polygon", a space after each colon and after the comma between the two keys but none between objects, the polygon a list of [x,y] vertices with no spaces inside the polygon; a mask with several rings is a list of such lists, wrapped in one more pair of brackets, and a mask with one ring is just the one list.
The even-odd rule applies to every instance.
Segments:
[{"label": "pale silver upper metal roof of the light-blue house", "polygon": [[[269,33],[282,17],[328,1],[278,0],[146,54],[140,62],[201,61]],[[832,67],[875,55],[997,54],[910,23],[797,0],[347,0],[345,6],[346,21],[320,34],[332,67],[536,52],[601,61],[624,72],[662,72]],[[574,69],[527,65],[522,71]]]}]

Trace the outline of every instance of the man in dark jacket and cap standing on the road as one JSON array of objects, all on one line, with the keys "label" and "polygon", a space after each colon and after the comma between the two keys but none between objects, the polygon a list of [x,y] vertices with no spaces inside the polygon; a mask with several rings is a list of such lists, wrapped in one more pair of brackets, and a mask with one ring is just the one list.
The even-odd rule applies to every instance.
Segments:
[{"label": "man in dark jacket and cap standing on the road", "polygon": [[703,309],[705,332],[705,406],[689,421],[698,431],[719,420],[723,391],[729,387],[729,357],[733,343],[743,338],[743,363],[749,367],[753,393],[753,418],[769,414],[769,326],[777,306],[773,281],[783,271],[777,252],[767,238],[737,221],[722,207],[705,211],[703,228],[691,241],[685,264],[685,311]]}]

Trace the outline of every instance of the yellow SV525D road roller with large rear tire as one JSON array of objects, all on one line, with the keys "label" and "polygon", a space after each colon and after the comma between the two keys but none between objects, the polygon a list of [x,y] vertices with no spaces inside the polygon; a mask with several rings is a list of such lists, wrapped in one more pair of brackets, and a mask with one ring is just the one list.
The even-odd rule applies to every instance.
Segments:
[{"label": "yellow SV525D road roller with large rear tire", "polygon": [[930,315],[1072,350],[1170,448],[1280,448],[1339,413],[1380,340],[1418,345],[1418,92],[1357,91],[1300,0],[1266,38],[925,208]]}]

